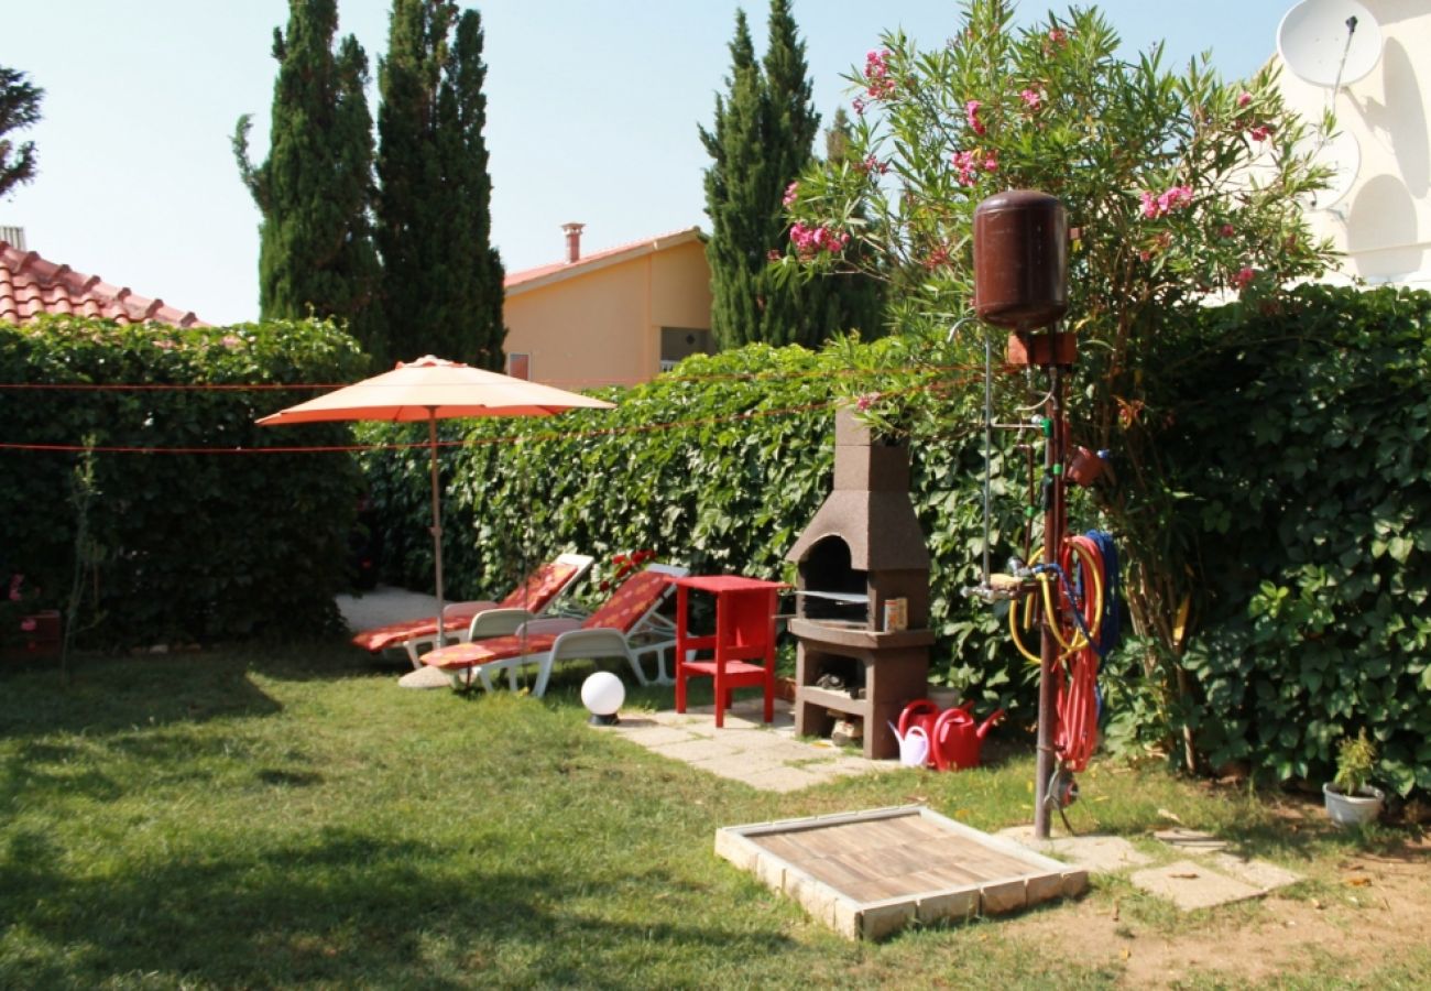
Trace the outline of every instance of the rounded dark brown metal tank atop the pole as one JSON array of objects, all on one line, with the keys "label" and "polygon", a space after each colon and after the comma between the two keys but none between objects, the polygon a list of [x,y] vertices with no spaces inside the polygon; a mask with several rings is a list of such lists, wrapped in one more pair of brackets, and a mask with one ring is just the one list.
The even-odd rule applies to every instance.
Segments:
[{"label": "rounded dark brown metal tank atop the pole", "polygon": [[1056,198],[1012,189],[975,208],[975,312],[1033,331],[1069,306],[1068,213]]}]

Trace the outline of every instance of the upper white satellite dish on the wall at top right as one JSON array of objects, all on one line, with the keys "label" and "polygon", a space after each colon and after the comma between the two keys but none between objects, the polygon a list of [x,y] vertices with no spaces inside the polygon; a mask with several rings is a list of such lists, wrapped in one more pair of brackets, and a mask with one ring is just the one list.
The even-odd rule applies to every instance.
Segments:
[{"label": "upper white satellite dish on the wall at top right", "polygon": [[1354,83],[1381,59],[1381,27],[1357,0],[1302,0],[1282,17],[1276,50],[1314,86]]}]

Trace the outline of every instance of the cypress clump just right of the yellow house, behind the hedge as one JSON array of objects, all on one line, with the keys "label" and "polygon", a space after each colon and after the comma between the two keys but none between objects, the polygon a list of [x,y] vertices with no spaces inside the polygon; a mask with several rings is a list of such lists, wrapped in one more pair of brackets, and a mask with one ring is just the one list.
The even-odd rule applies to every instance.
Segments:
[{"label": "cypress clump just right of the yellow house, behind the hedge", "polygon": [[[736,13],[728,96],[716,97],[714,130],[701,129],[711,238],[711,329],[721,348],[751,341],[819,344],[849,329],[874,332],[877,292],[847,275],[778,279],[771,252],[790,229],[784,195],[813,160],[820,115],[791,0],[770,0],[768,44],[757,63],[744,11]],[[871,305],[871,301],[873,305]]]}]

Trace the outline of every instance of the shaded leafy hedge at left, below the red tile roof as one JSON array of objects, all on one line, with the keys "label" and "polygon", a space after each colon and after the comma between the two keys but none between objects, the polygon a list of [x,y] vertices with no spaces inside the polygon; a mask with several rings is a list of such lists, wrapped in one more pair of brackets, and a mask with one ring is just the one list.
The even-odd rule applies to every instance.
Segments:
[{"label": "shaded leafy hedge at left, below the red tile roof", "polygon": [[[0,580],[23,574],[39,593],[26,607],[69,614],[83,518],[83,607],[72,617],[82,643],[332,629],[359,491],[352,458],[222,450],[351,444],[341,425],[253,425],[312,390],[232,387],[352,381],[362,364],[346,334],[319,322],[0,324],[10,445],[0,448]],[[46,388],[17,388],[26,384]],[[86,455],[73,448],[86,445],[92,494],[76,500]],[[162,453],[175,450],[193,453]]]}]

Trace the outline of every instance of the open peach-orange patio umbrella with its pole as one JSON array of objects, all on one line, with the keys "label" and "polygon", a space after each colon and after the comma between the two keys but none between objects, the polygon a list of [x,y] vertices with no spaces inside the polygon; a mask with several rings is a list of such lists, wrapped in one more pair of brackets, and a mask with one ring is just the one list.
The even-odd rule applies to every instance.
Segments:
[{"label": "open peach-orange patio umbrella with its pole", "polygon": [[428,355],[416,361],[399,361],[389,372],[280,410],[258,422],[260,427],[342,420],[428,424],[428,445],[432,451],[432,557],[436,569],[436,624],[438,646],[441,646],[442,497],[438,488],[438,420],[548,417],[577,407],[610,410],[612,404]]}]

